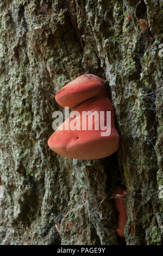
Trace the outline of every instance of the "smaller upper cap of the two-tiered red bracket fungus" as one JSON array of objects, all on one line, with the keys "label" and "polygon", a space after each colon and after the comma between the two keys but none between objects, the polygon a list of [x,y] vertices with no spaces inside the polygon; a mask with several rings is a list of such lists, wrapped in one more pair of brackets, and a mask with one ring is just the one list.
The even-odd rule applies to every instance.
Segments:
[{"label": "smaller upper cap of the two-tiered red bracket fungus", "polygon": [[95,75],[82,75],[67,83],[55,95],[55,100],[62,107],[70,109],[91,97],[106,97],[104,80]]}]

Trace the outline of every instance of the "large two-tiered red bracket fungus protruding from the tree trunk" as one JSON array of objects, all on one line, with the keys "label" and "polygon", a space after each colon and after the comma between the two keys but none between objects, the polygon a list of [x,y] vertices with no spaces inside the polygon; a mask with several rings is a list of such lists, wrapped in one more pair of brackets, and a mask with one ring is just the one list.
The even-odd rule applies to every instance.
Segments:
[{"label": "large two-tiered red bracket fungus protruding from the tree trunk", "polygon": [[[106,96],[102,78],[90,74],[79,76],[60,89],[55,95],[55,99],[60,106],[74,109],[70,117],[48,139],[48,145],[55,153],[72,159],[90,160],[102,159],[117,151],[119,135],[115,128],[114,108]],[[92,117],[93,129],[90,130],[88,119],[83,122],[83,111],[89,111],[92,115],[93,112],[100,114],[103,111],[105,127],[107,125],[106,112],[110,111],[110,134],[108,136],[101,135],[103,130],[96,115]],[[72,130],[70,124],[73,120],[76,121],[76,129]],[[84,129],[83,123],[85,124]],[[99,127],[98,130],[95,129],[96,125]]]}]

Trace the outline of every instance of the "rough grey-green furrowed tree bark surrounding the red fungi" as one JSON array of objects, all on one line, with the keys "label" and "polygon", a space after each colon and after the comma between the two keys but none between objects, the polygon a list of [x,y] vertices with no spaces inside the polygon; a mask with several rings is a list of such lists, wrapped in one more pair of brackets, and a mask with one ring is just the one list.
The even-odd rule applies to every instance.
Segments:
[{"label": "rough grey-green furrowed tree bark surrounding the red fungi", "polygon": [[[1,244],[160,245],[162,0],[0,7]],[[66,159],[47,145],[52,113],[62,108],[39,85],[56,93],[85,73],[105,80],[116,112],[120,149],[106,159]],[[116,236],[110,199],[120,184],[125,239]]]}]

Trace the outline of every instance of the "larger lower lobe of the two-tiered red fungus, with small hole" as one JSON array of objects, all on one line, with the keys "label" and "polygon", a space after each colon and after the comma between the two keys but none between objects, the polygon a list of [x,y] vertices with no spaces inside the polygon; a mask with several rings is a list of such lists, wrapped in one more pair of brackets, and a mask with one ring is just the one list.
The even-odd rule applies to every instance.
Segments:
[{"label": "larger lower lobe of the two-tiered red fungus, with small hole", "polygon": [[[72,117],[74,111],[78,111],[75,117]],[[102,159],[109,156],[119,147],[119,135],[115,129],[114,124],[114,108],[111,101],[107,97],[93,97],[80,105],[78,105],[70,114],[70,117],[65,120],[63,124],[52,134],[48,139],[49,147],[62,156],[72,159]],[[104,111],[104,118],[106,119],[106,111],[111,112],[111,133],[109,136],[101,136],[101,129],[95,130],[96,125],[99,123],[99,118],[92,118],[92,128],[89,130],[89,121],[86,119],[86,130],[82,130],[82,111]],[[76,130],[72,130],[71,121],[76,120]],[[65,127],[68,126],[68,130]],[[100,124],[99,124],[100,127]],[[106,127],[108,128],[108,127]]]}]

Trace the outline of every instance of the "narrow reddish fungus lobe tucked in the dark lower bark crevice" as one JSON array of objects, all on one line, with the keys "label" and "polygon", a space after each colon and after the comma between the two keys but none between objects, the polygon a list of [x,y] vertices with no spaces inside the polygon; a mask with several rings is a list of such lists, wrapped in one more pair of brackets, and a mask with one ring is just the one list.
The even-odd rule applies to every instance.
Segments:
[{"label": "narrow reddish fungus lobe tucked in the dark lower bark crevice", "polygon": [[[123,194],[123,192],[126,190],[126,188],[124,186],[119,186],[115,191],[114,191],[114,195],[116,196],[116,194]],[[121,198],[124,198],[121,197]],[[121,198],[115,198],[114,202],[117,208],[117,211],[119,213],[118,216],[118,228],[116,229],[117,231],[117,235],[124,237],[124,225],[126,224],[126,219],[127,219],[127,214],[126,214],[126,208],[124,205],[124,200]]]}]

